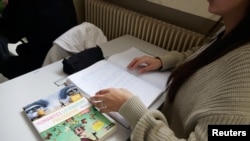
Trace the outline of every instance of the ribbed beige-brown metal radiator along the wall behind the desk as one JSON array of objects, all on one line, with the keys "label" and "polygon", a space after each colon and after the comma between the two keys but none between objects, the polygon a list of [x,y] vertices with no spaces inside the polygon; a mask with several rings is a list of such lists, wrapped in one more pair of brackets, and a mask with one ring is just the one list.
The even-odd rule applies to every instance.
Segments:
[{"label": "ribbed beige-brown metal radiator along the wall behind the desk", "polygon": [[197,46],[203,35],[102,1],[85,0],[85,21],[101,28],[108,40],[129,34],[167,50]]}]

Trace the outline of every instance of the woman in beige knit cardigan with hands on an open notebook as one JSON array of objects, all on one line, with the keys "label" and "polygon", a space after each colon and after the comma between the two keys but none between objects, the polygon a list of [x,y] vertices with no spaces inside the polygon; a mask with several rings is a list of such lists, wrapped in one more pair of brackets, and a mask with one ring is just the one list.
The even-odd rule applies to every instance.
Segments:
[{"label": "woman in beige knit cardigan with hands on an open notebook", "polygon": [[107,88],[91,97],[102,112],[117,111],[128,120],[132,141],[205,141],[208,125],[250,124],[250,1],[208,3],[208,11],[220,15],[224,25],[214,39],[183,53],[135,58],[128,65],[133,70],[146,63],[138,73],[173,69],[161,111],[147,109],[125,89]]}]

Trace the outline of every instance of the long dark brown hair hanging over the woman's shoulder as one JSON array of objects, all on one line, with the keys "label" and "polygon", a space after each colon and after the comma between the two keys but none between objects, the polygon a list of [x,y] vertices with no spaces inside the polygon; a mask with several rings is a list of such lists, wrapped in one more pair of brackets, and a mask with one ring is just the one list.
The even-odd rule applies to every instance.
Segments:
[{"label": "long dark brown hair hanging over the woman's shoulder", "polygon": [[[201,52],[197,57],[178,66],[171,73],[167,89],[170,102],[174,101],[178,89],[190,78],[198,69],[215,61],[226,53],[240,47],[250,41],[250,8],[248,8],[245,18],[224,38],[218,39]],[[219,35],[221,36],[221,35]]]}]

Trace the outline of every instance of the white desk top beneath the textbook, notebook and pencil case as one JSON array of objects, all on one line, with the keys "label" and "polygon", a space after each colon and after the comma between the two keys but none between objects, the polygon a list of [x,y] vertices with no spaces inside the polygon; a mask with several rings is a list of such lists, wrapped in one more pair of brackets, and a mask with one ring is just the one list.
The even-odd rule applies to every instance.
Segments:
[{"label": "white desk top beneath the textbook, notebook and pencil case", "polygon": [[[166,50],[139,40],[129,35],[122,36],[100,45],[104,56],[137,47],[152,55],[162,55]],[[24,74],[0,84],[0,140],[1,141],[39,141],[39,134],[25,117],[22,107],[39,98],[50,95],[62,87],[55,84],[67,75],[62,71],[61,61]],[[155,109],[162,103],[160,98],[151,108]],[[124,141],[129,137],[130,130],[118,125],[116,134],[109,141]]]}]

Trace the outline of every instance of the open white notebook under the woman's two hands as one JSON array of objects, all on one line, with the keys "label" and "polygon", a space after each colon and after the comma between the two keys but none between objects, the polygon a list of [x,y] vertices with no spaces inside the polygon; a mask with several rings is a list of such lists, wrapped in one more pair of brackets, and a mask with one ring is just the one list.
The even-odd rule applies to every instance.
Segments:
[{"label": "open white notebook under the woman's two hands", "polygon": [[[68,76],[68,83],[76,85],[87,97],[94,96],[97,91],[105,88],[124,88],[137,95],[149,108],[165,90],[170,72],[151,71],[138,74],[136,70],[127,69],[127,65],[135,57],[143,55],[149,54],[131,47]],[[140,67],[143,65],[146,64]],[[109,114],[125,127],[129,127],[118,113]]]}]

